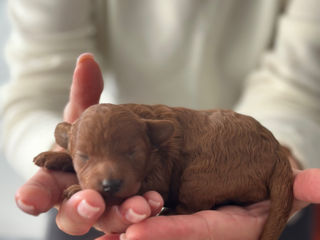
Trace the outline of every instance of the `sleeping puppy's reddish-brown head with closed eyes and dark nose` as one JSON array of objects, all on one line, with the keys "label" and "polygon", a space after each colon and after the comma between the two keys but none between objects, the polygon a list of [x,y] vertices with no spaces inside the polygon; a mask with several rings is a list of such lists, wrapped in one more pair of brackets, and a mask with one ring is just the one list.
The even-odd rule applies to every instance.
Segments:
[{"label": "sleeping puppy's reddish-brown head with closed eyes and dark nose", "polygon": [[151,152],[173,132],[170,121],[141,119],[119,105],[99,104],[73,125],[60,123],[55,136],[69,150],[83,189],[122,200],[138,193],[152,168]]}]

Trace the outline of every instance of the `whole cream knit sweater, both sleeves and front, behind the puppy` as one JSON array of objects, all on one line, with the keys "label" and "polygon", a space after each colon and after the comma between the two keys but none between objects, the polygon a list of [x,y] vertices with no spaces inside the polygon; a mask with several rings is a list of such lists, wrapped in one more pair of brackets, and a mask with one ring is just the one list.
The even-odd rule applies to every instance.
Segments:
[{"label": "whole cream knit sweater, both sleeves and front, behind the puppy", "polygon": [[320,166],[318,0],[11,0],[9,12],[2,136],[25,177],[86,51],[104,71],[104,102],[234,108]]}]

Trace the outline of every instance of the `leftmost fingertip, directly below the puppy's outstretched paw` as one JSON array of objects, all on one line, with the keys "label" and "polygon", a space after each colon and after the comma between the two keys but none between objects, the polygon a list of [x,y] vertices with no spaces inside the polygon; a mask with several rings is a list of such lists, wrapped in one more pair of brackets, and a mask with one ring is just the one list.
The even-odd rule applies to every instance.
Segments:
[{"label": "leftmost fingertip, directly below the puppy's outstretched paw", "polygon": [[76,182],[74,174],[41,168],[18,189],[15,200],[24,212],[39,215],[56,205],[61,200],[64,189]]}]

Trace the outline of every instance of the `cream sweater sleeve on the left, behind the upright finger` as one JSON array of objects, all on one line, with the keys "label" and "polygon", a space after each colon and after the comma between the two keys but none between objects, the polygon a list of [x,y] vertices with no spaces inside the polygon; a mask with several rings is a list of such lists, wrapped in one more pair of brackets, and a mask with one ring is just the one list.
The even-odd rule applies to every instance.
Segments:
[{"label": "cream sweater sleeve on the left, behind the upright finger", "polygon": [[32,159],[53,143],[76,57],[94,52],[89,0],[10,0],[6,46],[10,81],[1,88],[2,146],[17,172],[30,177]]}]

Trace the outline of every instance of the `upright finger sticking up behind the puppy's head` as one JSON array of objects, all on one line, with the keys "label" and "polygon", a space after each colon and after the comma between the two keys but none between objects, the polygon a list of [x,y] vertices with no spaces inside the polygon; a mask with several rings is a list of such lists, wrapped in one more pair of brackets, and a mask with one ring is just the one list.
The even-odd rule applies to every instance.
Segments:
[{"label": "upright finger sticking up behind the puppy's head", "polygon": [[65,121],[74,122],[86,108],[99,103],[102,90],[102,73],[93,55],[80,55],[73,74],[69,103],[64,111]]}]

